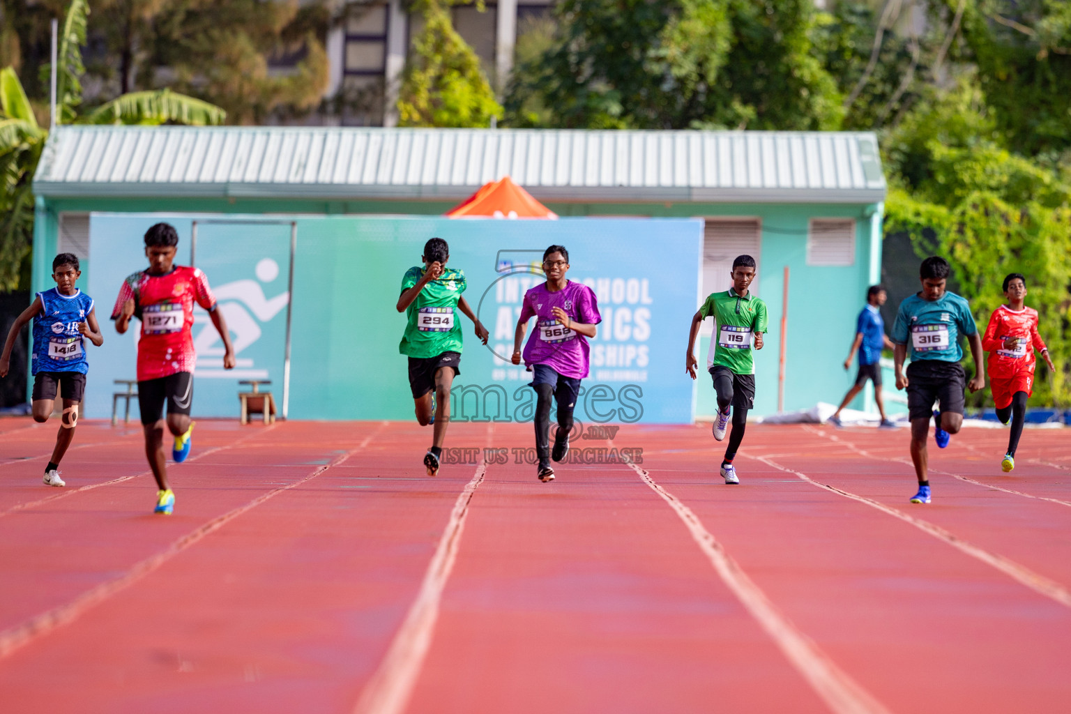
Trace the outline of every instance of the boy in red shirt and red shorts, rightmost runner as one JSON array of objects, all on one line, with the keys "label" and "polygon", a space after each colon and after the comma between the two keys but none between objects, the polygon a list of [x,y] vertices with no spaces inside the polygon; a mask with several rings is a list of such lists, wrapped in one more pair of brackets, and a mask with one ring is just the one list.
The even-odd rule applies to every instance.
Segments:
[{"label": "boy in red shirt and red shorts, rightmost runner", "polygon": [[990,353],[990,389],[997,407],[997,417],[1005,424],[1011,417],[1011,436],[1008,454],[1000,462],[1007,473],[1015,468],[1015,449],[1023,435],[1026,419],[1026,400],[1034,393],[1034,351],[1056,371],[1049,356],[1049,348],[1038,334],[1038,310],[1026,307],[1026,278],[1021,273],[1009,274],[1004,282],[1007,305],[1000,305],[990,316],[990,324],[982,337],[982,349]]}]

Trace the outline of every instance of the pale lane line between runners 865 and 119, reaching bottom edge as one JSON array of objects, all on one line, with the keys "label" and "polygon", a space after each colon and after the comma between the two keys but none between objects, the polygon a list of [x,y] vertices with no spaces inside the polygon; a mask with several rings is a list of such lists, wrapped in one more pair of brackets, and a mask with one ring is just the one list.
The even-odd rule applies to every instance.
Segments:
[{"label": "pale lane line between runners 865 and 119, reaching bottom edge", "polygon": [[836,714],[888,714],[887,710],[866,689],[823,652],[806,635],[770,602],[743,568],[726,552],[725,546],[706,529],[699,517],[673,493],[662,488],[650,474],[632,461],[629,466],[654,490],[662,500],[677,512],[692,537],[710,560],[722,582],[733,591],[766,634],[781,649],[797,671],[811,684],[817,695]]}]

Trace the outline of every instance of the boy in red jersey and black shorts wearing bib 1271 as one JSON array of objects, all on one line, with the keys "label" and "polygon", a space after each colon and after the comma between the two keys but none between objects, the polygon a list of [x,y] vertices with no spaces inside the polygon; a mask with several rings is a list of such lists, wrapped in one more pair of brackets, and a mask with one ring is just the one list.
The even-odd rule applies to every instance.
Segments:
[{"label": "boy in red jersey and black shorts wearing bib 1271", "polygon": [[208,278],[197,268],[175,265],[179,234],[166,223],[157,223],[145,233],[145,255],[149,270],[134,273],[123,282],[111,309],[119,334],[126,332],[132,317],[141,320],[137,344],[137,394],[145,428],[145,455],[160,488],[155,513],[170,514],[175,493],[167,485],[164,455],[164,402],[167,429],[175,437],[172,456],[186,460],[192,445],[194,302],[208,310],[226,350],[223,366],[235,366],[235,349],[223,315],[216,309]]}]

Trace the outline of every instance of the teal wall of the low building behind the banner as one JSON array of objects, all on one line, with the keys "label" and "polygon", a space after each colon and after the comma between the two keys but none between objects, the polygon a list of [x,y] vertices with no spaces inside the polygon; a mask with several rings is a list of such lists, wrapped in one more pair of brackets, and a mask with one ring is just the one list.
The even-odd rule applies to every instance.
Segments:
[{"label": "teal wall of the low building behind the banner", "polygon": [[[281,218],[293,215],[440,215],[453,201],[325,201],[312,199],[265,200],[252,198],[55,198],[39,199],[34,233],[34,290],[52,285],[51,257],[58,245],[61,212],[118,213],[221,213],[261,214]],[[761,225],[757,294],[767,302],[770,332],[765,348],[756,353],[756,414],[778,409],[781,318],[784,269],[789,270],[788,318],[785,339],[786,410],[813,407],[818,401],[838,404],[850,386],[855,369],[842,363],[854,337],[856,316],[865,302],[865,290],[880,275],[881,204],[778,204],[778,203],[556,203],[547,206],[561,216],[645,217],[741,217]],[[848,217],[856,221],[855,261],[846,267],[806,264],[806,237],[812,218]],[[657,246],[652,246],[657,247]],[[88,285],[92,261],[84,264],[79,286]],[[698,267],[696,267],[698,269]],[[101,304],[108,297],[100,297]],[[110,307],[108,305],[107,307]],[[698,307],[698,299],[695,308]],[[693,308],[694,309],[694,308]],[[99,310],[103,312],[103,310]],[[683,373],[688,324],[678,331]],[[697,359],[706,364],[707,338],[700,337]],[[886,391],[891,389],[886,385]],[[872,408],[871,390],[851,405]],[[891,411],[899,411],[895,405]],[[700,373],[695,394],[695,414],[715,411],[710,379]]]}]

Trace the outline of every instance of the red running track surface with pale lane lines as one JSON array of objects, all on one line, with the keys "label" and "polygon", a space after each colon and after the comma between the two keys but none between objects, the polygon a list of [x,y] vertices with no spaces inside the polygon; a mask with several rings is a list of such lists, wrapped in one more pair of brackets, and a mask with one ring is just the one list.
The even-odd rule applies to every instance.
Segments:
[{"label": "red running track surface with pale lane lines", "polygon": [[[625,426],[643,464],[420,459],[410,424],[0,420],[0,711],[1066,712],[1071,431]],[[531,445],[453,424],[452,446]],[[605,441],[574,442],[573,449]],[[659,490],[661,489],[661,490]],[[1002,489],[1002,490],[1001,490]],[[1032,497],[1032,498],[1031,498]]]}]

